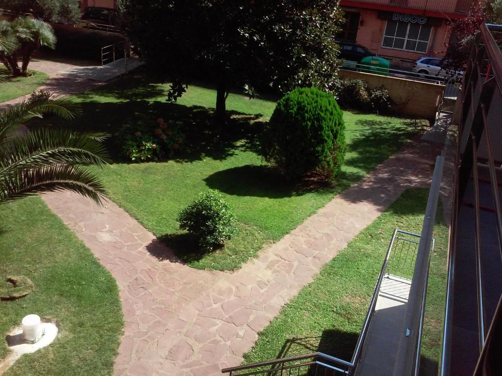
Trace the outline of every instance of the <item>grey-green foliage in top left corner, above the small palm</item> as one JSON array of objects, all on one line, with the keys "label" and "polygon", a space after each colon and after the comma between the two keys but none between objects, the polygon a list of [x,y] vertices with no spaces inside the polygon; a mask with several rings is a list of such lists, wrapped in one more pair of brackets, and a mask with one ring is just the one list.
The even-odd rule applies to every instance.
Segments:
[{"label": "grey-green foliage in top left corner, above the small palm", "polygon": [[31,13],[51,22],[77,21],[81,17],[79,2],[75,0],[0,0],[0,8]]}]

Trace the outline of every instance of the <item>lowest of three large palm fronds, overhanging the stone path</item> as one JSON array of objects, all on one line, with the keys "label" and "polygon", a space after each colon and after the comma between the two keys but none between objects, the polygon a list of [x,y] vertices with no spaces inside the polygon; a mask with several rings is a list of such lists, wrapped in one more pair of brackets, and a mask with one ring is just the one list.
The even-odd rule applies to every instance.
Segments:
[{"label": "lowest of three large palm fronds, overhanging the stone path", "polygon": [[96,175],[69,165],[29,168],[0,179],[0,204],[44,192],[68,190],[102,205],[105,190]]}]

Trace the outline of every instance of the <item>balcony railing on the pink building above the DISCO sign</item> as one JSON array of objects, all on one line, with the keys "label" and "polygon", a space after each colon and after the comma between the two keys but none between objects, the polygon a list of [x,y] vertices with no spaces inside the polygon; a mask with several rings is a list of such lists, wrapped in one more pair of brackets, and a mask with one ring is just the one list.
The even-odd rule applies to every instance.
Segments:
[{"label": "balcony railing on the pink building above the DISCO sign", "polygon": [[[467,13],[472,4],[472,0],[352,0],[352,2],[443,13]],[[406,13],[405,10],[403,12]]]}]

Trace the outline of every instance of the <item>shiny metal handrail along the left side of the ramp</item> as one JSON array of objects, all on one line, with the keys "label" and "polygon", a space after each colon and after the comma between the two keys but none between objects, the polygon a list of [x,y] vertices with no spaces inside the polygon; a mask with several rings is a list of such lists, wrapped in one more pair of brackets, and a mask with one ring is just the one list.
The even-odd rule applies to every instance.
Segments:
[{"label": "shiny metal handrail along the left side of the ramp", "polygon": [[[405,267],[413,269],[413,262],[407,263],[410,251],[416,255],[417,246],[419,242],[414,239],[420,239],[420,235],[408,231],[395,229],[392,235],[389,248],[387,250],[382,269],[380,271],[378,280],[376,282],[371,301],[369,303],[366,317],[357,338],[354,352],[350,361],[343,360],[322,352],[313,352],[306,355],[292,356],[286,358],[279,358],[268,360],[260,363],[253,363],[247,365],[240,365],[235,367],[224,368],[222,373],[228,373],[230,376],[317,376],[317,375],[332,375],[337,376],[340,374],[353,375],[357,364],[361,358],[362,348],[366,339],[371,318],[374,314],[376,301],[380,294],[382,282],[387,273],[391,253],[394,250],[399,251],[399,256],[396,262],[393,263],[393,268]],[[434,247],[434,239],[432,241],[432,248]],[[401,242],[401,243],[400,243]],[[398,246],[396,246],[396,244]],[[401,247],[399,246],[401,244]],[[408,247],[406,247],[408,245]],[[415,248],[412,248],[415,247]],[[406,255],[405,255],[406,252]],[[410,256],[411,259],[411,256]],[[424,292],[425,294],[425,292]],[[424,296],[425,300],[425,296]],[[422,319],[423,323],[423,319]],[[331,372],[331,373],[329,373]]]}]

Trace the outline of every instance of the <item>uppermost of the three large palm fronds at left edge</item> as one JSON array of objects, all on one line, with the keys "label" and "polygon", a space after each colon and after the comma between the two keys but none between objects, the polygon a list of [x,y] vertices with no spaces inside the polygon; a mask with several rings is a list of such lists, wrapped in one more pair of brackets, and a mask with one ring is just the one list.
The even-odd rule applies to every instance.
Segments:
[{"label": "uppermost of the three large palm fronds at left edge", "polygon": [[56,97],[51,100],[23,101],[0,114],[0,139],[6,138],[22,123],[34,117],[55,114],[63,119],[73,119],[81,113],[80,106],[68,98]]}]

